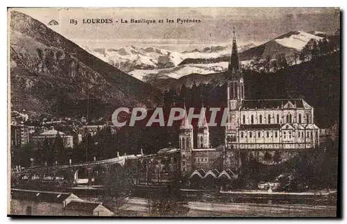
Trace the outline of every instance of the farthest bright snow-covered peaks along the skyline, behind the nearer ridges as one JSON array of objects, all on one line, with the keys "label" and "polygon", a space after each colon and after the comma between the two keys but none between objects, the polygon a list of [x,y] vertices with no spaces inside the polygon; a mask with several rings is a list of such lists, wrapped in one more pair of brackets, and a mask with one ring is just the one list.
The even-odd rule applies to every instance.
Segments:
[{"label": "farthest bright snow-covered peaks along the skyline, behind the nearer ridges", "polygon": [[[246,44],[239,47],[239,51],[244,51],[255,44]],[[91,49],[88,46],[83,48],[92,53],[97,58],[112,64],[113,66],[125,72],[138,69],[167,69],[178,66],[186,58],[219,58],[230,54],[231,45],[210,46],[205,49],[193,51],[169,51],[155,47],[139,48],[135,46],[126,46],[121,49]]]}]

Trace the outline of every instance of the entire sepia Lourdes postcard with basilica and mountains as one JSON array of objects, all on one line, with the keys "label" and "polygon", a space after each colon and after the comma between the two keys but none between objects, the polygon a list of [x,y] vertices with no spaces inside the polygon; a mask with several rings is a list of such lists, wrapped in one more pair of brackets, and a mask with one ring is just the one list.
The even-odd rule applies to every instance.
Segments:
[{"label": "entire sepia Lourdes postcard with basilica and mountains", "polygon": [[340,8],[8,8],[8,216],[338,218]]}]

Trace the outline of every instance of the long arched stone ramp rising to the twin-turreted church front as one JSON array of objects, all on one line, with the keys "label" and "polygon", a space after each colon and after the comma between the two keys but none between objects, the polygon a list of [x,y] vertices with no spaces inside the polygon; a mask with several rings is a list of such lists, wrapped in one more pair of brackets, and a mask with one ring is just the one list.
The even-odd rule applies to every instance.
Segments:
[{"label": "long arched stone ramp rising to the twin-turreted church front", "polygon": [[154,155],[124,155],[109,160],[56,166],[12,169],[12,184],[53,183],[105,185],[119,180],[125,184],[162,185],[180,178],[180,150],[160,150]]}]

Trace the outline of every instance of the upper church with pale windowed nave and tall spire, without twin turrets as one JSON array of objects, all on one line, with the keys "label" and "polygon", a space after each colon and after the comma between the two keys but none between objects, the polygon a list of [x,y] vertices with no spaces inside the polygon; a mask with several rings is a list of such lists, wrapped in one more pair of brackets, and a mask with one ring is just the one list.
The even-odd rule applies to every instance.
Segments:
[{"label": "upper church with pale windowed nave and tall spire, without twin turrets", "polygon": [[275,153],[280,153],[275,162],[282,162],[297,150],[319,146],[314,108],[303,98],[245,99],[235,31],[228,75],[228,150],[251,150],[255,157],[268,162],[274,162]]}]

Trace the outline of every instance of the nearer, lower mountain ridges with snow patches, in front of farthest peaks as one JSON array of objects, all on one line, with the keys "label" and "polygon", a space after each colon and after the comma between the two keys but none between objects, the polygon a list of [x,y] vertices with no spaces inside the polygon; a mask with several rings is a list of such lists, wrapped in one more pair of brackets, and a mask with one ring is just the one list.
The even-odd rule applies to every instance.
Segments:
[{"label": "nearer, lower mountain ridges with snow patches, in front of farthest peaks", "polygon": [[[291,31],[259,46],[252,46],[249,49],[244,49],[244,51],[239,51],[239,58],[244,65],[251,64],[252,60],[255,58],[260,58],[260,60],[265,59],[267,56],[276,58],[278,54],[284,54],[286,58],[291,58],[294,54],[300,53],[303,46],[310,40],[314,39],[319,41],[324,37],[329,38],[329,35],[317,31]],[[222,49],[222,47],[220,49]],[[230,46],[227,46],[225,49],[228,49],[225,53],[223,51],[218,51],[219,53],[223,52],[223,54],[220,54],[218,57],[185,58],[185,60],[180,62],[176,67],[163,69],[135,69],[128,73],[139,80],[149,81],[152,84],[154,82],[156,87],[165,88],[169,87],[168,84],[173,81],[176,82],[175,80],[183,78],[184,76],[190,76],[192,74],[195,76],[197,74],[206,76],[226,71],[230,59]],[[158,82],[158,79],[168,80]],[[192,78],[185,79],[191,80]],[[199,79],[201,80],[201,78]],[[206,80],[210,80],[210,78],[206,78]],[[167,85],[162,86],[162,83],[166,83]],[[176,84],[174,85],[176,86]]]}]

